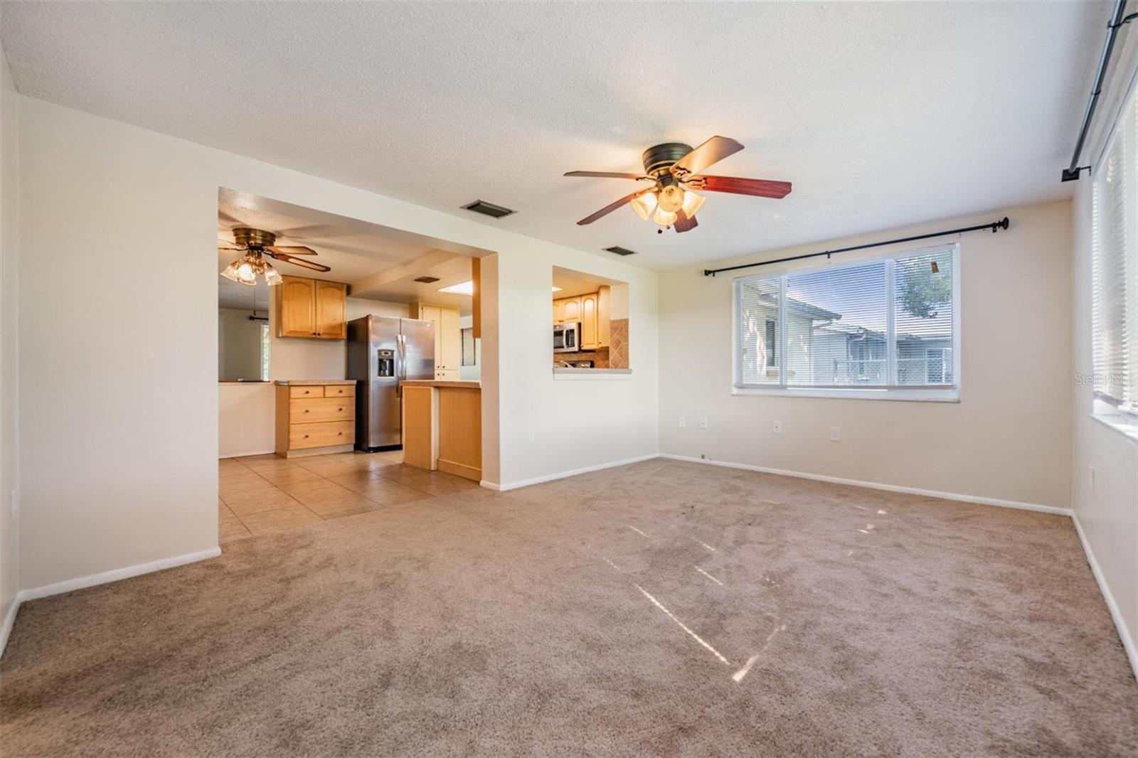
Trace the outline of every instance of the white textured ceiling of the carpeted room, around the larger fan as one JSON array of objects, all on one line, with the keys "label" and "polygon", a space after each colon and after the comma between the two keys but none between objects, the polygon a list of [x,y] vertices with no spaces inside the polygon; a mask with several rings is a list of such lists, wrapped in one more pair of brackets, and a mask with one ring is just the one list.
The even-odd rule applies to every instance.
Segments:
[{"label": "white textured ceiling of the carpeted room, around the larger fan", "polygon": [[[28,96],[658,269],[1067,197],[1108,2],[3,3]],[[658,30],[655,33],[652,30]],[[790,180],[575,222],[655,142]],[[492,221],[481,198],[518,211]]]}]

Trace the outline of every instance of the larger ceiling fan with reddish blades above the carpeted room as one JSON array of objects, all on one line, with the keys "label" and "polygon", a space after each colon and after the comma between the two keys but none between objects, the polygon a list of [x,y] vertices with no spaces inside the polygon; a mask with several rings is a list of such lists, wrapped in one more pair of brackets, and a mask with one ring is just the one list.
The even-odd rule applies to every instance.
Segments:
[{"label": "larger ceiling fan with reddish blades above the carpeted room", "polygon": [[[629,204],[636,215],[652,221],[667,229],[675,226],[677,232],[695,229],[695,213],[706,199],[692,190],[708,192],[732,192],[734,195],[752,195],[754,197],[783,198],[790,195],[790,182],[776,182],[767,179],[740,179],[737,176],[711,176],[701,173],[712,163],[723,160],[743,149],[743,146],[729,137],[712,137],[695,149],[683,142],[665,142],[644,150],[644,173],[632,174],[611,171],[570,171],[566,176],[601,176],[608,179],[635,179],[652,182],[651,187],[626,195],[616,203],[604,206],[596,213],[577,222],[584,226],[601,216],[608,215]],[[657,233],[662,234],[663,229]]]}]

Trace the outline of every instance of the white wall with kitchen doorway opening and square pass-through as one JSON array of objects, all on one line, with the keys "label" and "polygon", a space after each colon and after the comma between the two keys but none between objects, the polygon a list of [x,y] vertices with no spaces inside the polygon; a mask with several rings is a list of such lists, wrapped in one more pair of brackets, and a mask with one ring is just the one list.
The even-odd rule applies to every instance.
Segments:
[{"label": "white wall with kitchen doorway opening and square pass-through", "polygon": [[[19,124],[24,587],[216,549],[221,187],[497,253],[488,481],[657,452],[654,273],[31,98]],[[143,257],[151,269],[105,265]],[[628,380],[553,380],[554,264],[630,282]]]}]

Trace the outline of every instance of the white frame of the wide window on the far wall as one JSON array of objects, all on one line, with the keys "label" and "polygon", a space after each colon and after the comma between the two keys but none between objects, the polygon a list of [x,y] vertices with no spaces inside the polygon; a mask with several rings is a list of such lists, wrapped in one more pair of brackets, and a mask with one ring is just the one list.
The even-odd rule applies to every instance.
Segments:
[{"label": "white frame of the wide window on the far wall", "polygon": [[[882,387],[882,388],[844,388],[844,387],[795,387],[786,384],[786,361],[785,361],[785,343],[786,343],[786,319],[782,318],[784,303],[785,303],[785,289],[786,280],[783,278],[787,274],[805,273],[808,271],[819,271],[824,269],[838,267],[833,263],[830,264],[816,264],[816,265],[782,265],[782,266],[770,266],[768,270],[761,273],[747,274],[742,277],[735,277],[732,280],[731,286],[731,394],[740,397],[751,396],[751,397],[839,397],[847,399],[879,399],[879,401],[915,401],[924,403],[959,403],[960,402],[960,245],[959,242],[951,242],[948,245],[935,245],[931,247],[921,247],[904,250],[890,250],[885,253],[879,253],[876,255],[866,255],[859,257],[850,257],[848,261],[843,261],[839,266],[846,265],[857,265],[861,263],[872,263],[874,261],[888,261],[885,272],[885,298],[890,307],[885,311],[887,319],[887,332],[890,337],[885,340],[887,352],[888,352],[888,371],[890,381],[894,382],[897,378],[897,340],[892,338],[894,327],[894,294],[893,294],[893,262],[899,258],[908,258],[918,255],[927,255],[930,253],[943,253],[948,252],[953,255],[953,385],[945,387],[923,387],[923,386],[912,386],[907,387],[904,385]],[[740,303],[737,297],[737,282],[740,281],[758,281],[761,279],[774,279],[780,277],[778,280],[778,347],[776,354],[778,355],[778,373],[780,384],[769,387],[759,386],[748,386],[748,387],[736,387],[735,378],[739,376],[740,370],[740,355],[739,355],[739,340],[736,335],[739,333],[739,311]],[[781,351],[781,352],[780,352]]]}]

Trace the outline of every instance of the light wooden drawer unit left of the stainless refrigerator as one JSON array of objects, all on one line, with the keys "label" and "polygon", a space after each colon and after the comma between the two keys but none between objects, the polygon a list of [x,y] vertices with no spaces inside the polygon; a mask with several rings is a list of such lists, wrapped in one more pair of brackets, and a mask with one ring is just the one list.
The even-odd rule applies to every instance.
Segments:
[{"label": "light wooden drawer unit left of the stainless refrigerator", "polygon": [[277,454],[348,452],[355,444],[355,385],[278,385]]}]

